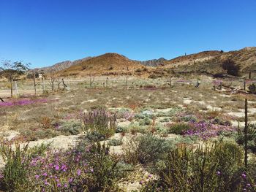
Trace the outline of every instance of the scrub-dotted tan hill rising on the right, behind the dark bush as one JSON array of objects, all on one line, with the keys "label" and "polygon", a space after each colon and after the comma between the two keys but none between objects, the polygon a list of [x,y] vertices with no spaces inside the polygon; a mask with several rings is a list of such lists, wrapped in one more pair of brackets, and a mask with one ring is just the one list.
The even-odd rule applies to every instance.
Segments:
[{"label": "scrub-dotted tan hill rising on the right, behind the dark bush", "polygon": [[165,61],[160,68],[177,73],[225,73],[223,61],[232,59],[241,66],[241,74],[256,70],[256,47],[246,47],[241,50],[220,52],[205,51]]}]

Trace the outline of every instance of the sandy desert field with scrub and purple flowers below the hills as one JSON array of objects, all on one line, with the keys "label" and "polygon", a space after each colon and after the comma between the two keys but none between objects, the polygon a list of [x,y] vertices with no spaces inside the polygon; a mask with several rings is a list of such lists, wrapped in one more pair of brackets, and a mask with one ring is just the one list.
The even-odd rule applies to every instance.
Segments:
[{"label": "sandy desert field with scrub and purple flowers below the hills", "polygon": [[[217,85],[220,81],[222,88]],[[89,191],[165,191],[166,188],[186,191],[195,185],[176,184],[172,188],[166,184],[167,180],[182,180],[187,175],[181,173],[182,169],[187,172],[195,169],[193,177],[196,173],[197,179],[214,174],[213,180],[206,183],[216,185],[220,174],[229,178],[230,169],[242,167],[244,99],[248,99],[248,120],[253,126],[256,98],[233,93],[224,86],[232,83],[233,87],[242,88],[240,80],[214,80],[206,75],[171,80],[122,76],[108,77],[108,80],[94,77],[91,84],[89,78],[67,79],[65,83],[67,88],[60,85],[59,90],[51,91],[50,83],[45,82],[45,93],[38,84],[35,96],[33,82],[18,81],[18,95],[10,99],[7,82],[1,82],[0,97],[4,99],[0,103],[1,168],[7,162],[10,149],[15,150],[12,155],[18,155],[17,150],[29,151],[33,156],[28,162],[32,165],[29,180],[37,182],[30,190],[47,190],[45,183],[49,183],[49,186],[59,185],[61,191],[67,191],[67,186],[72,191],[80,191],[78,185],[72,187],[69,181],[72,177],[81,182],[77,178],[81,174],[102,183],[99,186],[83,183],[90,186]],[[215,90],[214,85],[217,85]],[[14,93],[17,92],[14,90]],[[250,167],[255,166],[255,146],[252,137]],[[95,150],[99,153],[97,158]],[[215,154],[218,150],[223,153],[221,157]],[[192,164],[189,154],[195,155],[192,155],[193,161],[205,158],[206,165],[186,167]],[[231,158],[228,161],[232,164],[213,160],[215,158]],[[216,165],[211,166],[214,162]],[[59,172],[59,169],[65,171]],[[170,174],[173,169],[177,175]],[[234,172],[239,174],[239,170]],[[253,175],[255,171],[253,168],[248,172]],[[252,180],[246,181],[247,190],[254,190]],[[237,185],[230,182],[230,185],[238,190],[244,187],[244,180],[241,182]],[[219,184],[219,188],[225,186]]]}]

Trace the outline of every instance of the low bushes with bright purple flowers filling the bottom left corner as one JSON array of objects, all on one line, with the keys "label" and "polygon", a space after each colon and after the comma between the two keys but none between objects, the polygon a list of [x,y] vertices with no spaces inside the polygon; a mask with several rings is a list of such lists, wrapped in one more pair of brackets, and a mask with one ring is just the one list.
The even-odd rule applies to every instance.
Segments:
[{"label": "low bushes with bright purple flowers filling the bottom left corner", "polygon": [[1,152],[7,154],[0,179],[2,190],[118,191],[117,183],[126,177],[124,170],[129,166],[110,156],[105,144],[80,143],[66,151],[39,151],[32,156],[27,145],[23,150],[1,147]]}]

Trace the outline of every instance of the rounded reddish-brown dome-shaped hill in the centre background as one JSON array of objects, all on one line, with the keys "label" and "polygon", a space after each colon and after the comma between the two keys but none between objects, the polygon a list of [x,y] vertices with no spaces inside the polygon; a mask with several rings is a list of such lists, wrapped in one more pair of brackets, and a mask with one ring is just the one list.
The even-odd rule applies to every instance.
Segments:
[{"label": "rounded reddish-brown dome-shaped hill in the centre background", "polygon": [[117,53],[106,53],[59,72],[62,76],[83,76],[88,74],[121,75],[141,74],[145,66]]}]

